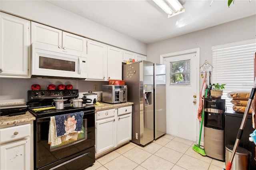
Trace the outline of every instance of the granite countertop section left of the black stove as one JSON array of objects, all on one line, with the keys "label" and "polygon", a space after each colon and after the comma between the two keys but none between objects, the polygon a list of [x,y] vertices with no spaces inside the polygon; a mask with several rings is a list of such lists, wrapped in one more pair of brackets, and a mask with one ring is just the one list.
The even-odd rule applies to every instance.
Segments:
[{"label": "granite countertop section left of the black stove", "polygon": [[36,117],[32,115],[29,111],[26,112],[26,114],[23,115],[17,115],[17,116],[1,116],[0,117],[0,126],[4,125],[12,125],[16,123],[22,123],[22,122],[29,122],[36,120]]}]

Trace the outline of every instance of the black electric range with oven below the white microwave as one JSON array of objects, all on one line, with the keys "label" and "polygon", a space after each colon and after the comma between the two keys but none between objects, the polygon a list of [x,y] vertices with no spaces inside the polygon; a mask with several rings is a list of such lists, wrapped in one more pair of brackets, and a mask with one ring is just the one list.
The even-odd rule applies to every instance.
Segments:
[{"label": "black electric range with oven below the white microwave", "polygon": [[[64,109],[52,108],[53,99],[63,97]],[[86,105],[72,108],[70,99],[78,98],[78,90],[28,91],[28,111],[34,121],[34,169],[36,170],[83,170],[95,162],[95,107]],[[36,111],[41,109],[41,111]],[[52,147],[48,144],[50,118],[57,115],[82,111],[82,135]]]}]

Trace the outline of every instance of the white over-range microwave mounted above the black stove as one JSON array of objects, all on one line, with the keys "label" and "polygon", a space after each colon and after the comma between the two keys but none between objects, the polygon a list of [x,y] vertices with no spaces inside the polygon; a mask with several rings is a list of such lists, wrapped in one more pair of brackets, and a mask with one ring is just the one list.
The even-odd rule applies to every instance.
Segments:
[{"label": "white over-range microwave mounted above the black stove", "polygon": [[31,77],[87,78],[87,57],[49,45],[31,45]]}]

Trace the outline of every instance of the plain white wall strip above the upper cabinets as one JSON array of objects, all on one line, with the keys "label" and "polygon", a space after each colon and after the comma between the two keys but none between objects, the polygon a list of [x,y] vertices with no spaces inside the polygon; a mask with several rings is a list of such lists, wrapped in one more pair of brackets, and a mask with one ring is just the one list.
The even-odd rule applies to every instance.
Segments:
[{"label": "plain white wall strip above the upper cabinets", "polygon": [[146,55],[147,46],[138,40],[68,12],[42,0],[1,0],[3,12],[72,32],[92,40]]}]

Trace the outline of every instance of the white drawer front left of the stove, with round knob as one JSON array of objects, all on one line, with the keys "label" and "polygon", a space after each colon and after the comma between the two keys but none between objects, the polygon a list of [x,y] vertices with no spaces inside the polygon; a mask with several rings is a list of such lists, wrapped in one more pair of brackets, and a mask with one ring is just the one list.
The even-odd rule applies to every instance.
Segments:
[{"label": "white drawer front left of the stove, with round knob", "polygon": [[0,129],[0,142],[30,136],[30,124]]}]

